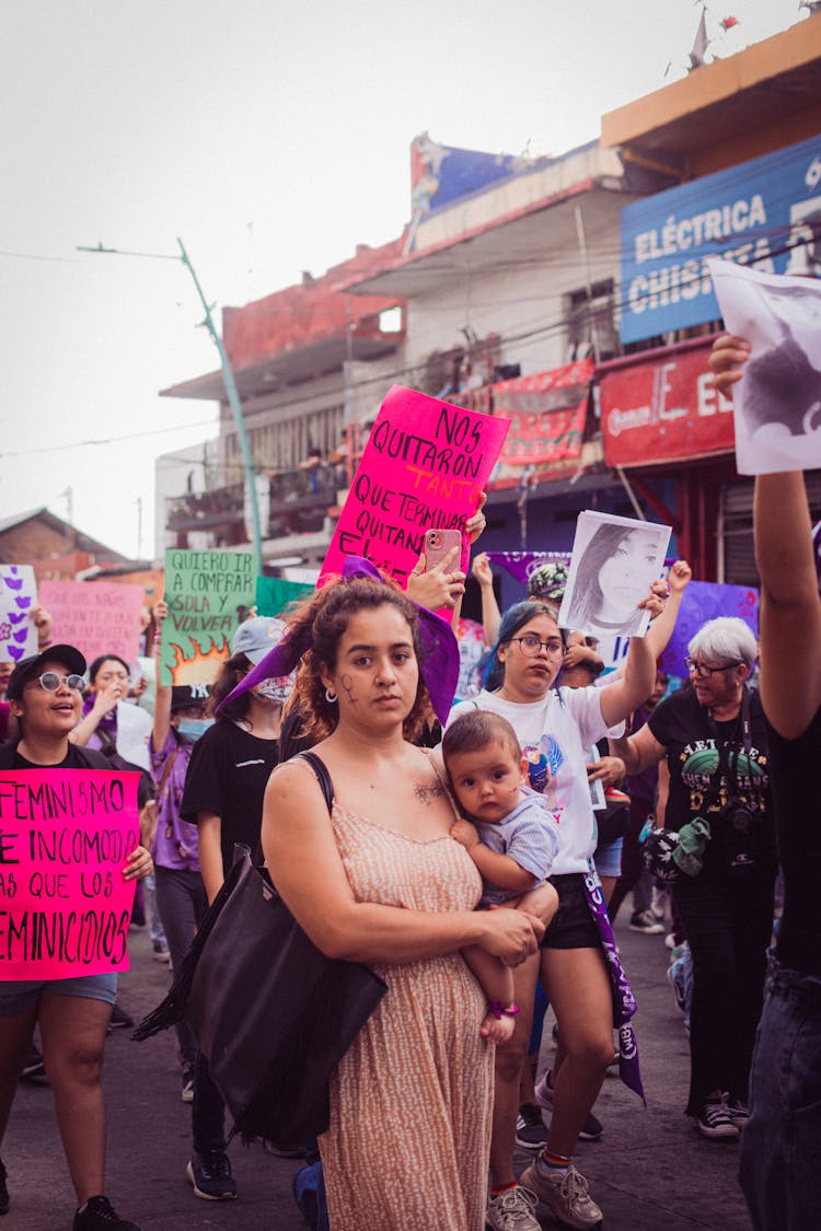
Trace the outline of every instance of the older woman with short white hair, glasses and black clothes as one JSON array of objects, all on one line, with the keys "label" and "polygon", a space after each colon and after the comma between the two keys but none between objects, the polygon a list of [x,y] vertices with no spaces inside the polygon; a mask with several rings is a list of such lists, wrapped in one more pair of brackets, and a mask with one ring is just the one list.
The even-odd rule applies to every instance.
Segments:
[{"label": "older woman with short white hair, glasses and black clothes", "polygon": [[750,1064],[773,924],[777,859],[757,645],[741,619],[691,640],[689,687],[617,744],[629,774],[666,758],[672,892],[693,954],[687,1114],[705,1137],[746,1124]]}]

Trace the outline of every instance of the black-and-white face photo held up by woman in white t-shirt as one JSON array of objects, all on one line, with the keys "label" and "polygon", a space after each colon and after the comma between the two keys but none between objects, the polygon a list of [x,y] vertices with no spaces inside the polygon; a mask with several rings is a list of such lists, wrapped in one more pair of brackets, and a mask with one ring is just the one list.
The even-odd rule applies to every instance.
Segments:
[{"label": "black-and-white face photo held up by woman in white t-shirt", "polygon": [[644,636],[650,617],[639,603],[661,575],[668,542],[668,526],[580,513],[560,627]]}]

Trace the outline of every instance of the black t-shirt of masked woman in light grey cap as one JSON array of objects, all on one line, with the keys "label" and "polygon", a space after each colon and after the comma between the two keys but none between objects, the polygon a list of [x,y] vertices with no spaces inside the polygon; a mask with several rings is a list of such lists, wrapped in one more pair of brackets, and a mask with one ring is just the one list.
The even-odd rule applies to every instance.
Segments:
[{"label": "black t-shirt of masked woman in light grey cap", "polygon": [[210,726],[191,753],[180,816],[219,816],[223,870],[234,862],[234,843],[254,852],[262,828],[262,799],[271,771],[279,762],[278,740],[260,740],[226,719]]}]

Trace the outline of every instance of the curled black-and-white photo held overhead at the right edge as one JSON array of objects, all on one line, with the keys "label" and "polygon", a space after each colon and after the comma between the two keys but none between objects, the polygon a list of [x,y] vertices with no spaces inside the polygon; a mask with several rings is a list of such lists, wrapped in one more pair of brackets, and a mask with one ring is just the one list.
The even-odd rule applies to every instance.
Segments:
[{"label": "curled black-and-white photo held overhead at the right edge", "polygon": [[740,474],[821,465],[821,286],[710,261],[721,315],[747,340],[734,390]]}]

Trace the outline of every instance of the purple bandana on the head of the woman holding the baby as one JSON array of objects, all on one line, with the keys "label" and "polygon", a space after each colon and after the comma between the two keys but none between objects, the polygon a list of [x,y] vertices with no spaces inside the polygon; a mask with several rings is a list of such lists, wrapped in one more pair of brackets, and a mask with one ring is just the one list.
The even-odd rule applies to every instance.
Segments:
[{"label": "purple bandana on the head of the woman holding the baby", "polygon": [[[342,566],[342,581],[352,581],[354,577],[367,577],[369,581],[384,585],[380,574],[369,560],[350,555]],[[436,716],[444,726],[459,683],[459,643],[447,620],[435,612],[430,612],[426,607],[420,607],[419,603],[414,603],[414,606],[419,612],[419,633],[422,644],[420,671]],[[292,636],[290,630],[288,630],[282,641],[266,654],[265,659],[257,662],[254,670],[217,707],[218,712],[223,705],[255,688],[263,680],[289,676],[309,649],[310,630],[306,630],[305,635],[299,639]]]}]

